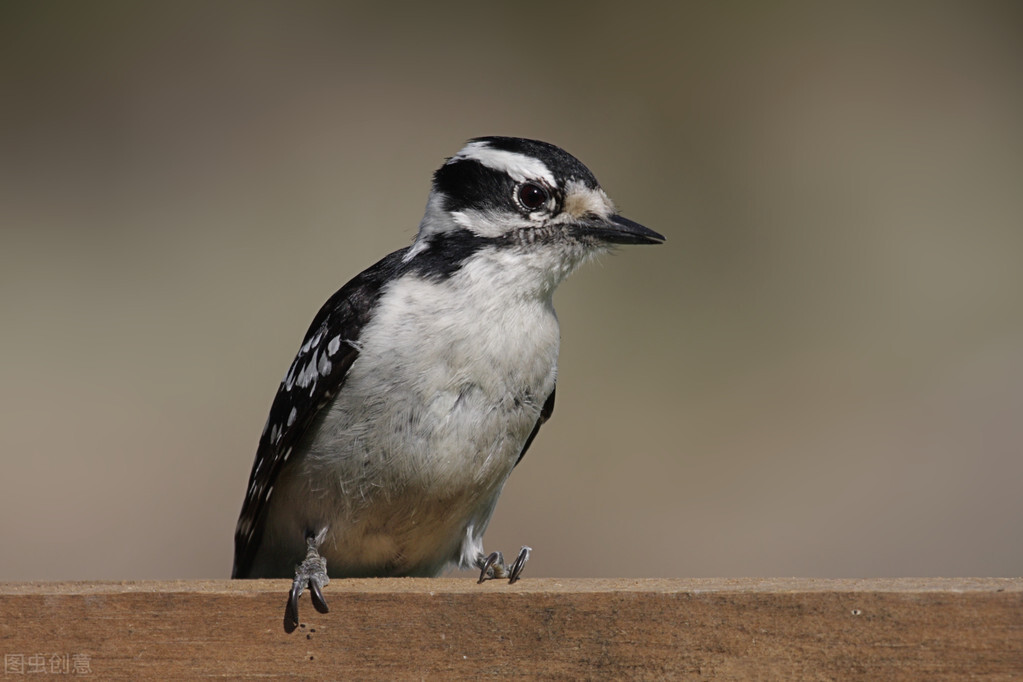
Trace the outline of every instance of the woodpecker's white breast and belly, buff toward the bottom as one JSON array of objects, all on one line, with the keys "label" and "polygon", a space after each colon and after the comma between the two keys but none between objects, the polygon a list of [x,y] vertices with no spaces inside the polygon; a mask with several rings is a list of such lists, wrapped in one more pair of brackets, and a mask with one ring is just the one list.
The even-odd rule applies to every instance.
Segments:
[{"label": "woodpecker's white breast and belly, buff toward the bottom", "polygon": [[331,575],[471,563],[553,390],[552,287],[499,252],[445,281],[389,284],[284,495],[326,524]]}]

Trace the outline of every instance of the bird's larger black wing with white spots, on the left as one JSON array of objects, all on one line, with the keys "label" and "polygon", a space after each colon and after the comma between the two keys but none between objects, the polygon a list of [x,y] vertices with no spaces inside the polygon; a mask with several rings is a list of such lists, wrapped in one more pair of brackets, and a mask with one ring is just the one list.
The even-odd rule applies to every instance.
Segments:
[{"label": "bird's larger black wing with white spots, on the left", "polygon": [[316,415],[345,384],[359,356],[358,338],[369,322],[384,283],[406,269],[407,249],[387,256],[339,289],[320,308],[270,407],[246,501],[234,532],[232,578],[248,578],[263,539],[274,482]]}]

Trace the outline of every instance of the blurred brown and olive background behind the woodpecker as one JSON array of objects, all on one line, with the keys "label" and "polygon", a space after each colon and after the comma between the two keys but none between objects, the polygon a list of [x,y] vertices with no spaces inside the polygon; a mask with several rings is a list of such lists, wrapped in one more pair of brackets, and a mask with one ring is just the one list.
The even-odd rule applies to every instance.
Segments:
[{"label": "blurred brown and olive background behind the woodpecker", "polygon": [[226,577],[306,325],[490,134],[668,243],[560,290],[488,547],[1018,576],[1021,122],[1013,2],[3,3],[0,580]]}]

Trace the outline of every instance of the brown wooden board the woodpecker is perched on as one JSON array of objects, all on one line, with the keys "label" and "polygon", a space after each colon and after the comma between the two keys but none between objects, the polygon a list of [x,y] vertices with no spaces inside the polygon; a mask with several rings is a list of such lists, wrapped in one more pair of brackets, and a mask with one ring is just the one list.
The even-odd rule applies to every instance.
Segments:
[{"label": "brown wooden board the woodpecker is perched on", "polygon": [[1023,579],[336,580],[291,635],[286,589],[0,584],[0,653],[137,680],[1023,676]]}]

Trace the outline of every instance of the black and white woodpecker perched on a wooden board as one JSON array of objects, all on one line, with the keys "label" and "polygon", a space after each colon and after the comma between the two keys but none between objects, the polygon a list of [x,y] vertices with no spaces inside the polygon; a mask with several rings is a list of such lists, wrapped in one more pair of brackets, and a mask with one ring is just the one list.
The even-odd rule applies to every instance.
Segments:
[{"label": "black and white woodpecker perched on a wooden board", "polygon": [[587,257],[664,237],[620,216],[563,149],[471,140],[435,174],[412,244],[323,305],[267,419],[233,578],[295,578],[285,629],[328,577],[519,577],[483,550],[511,469],[554,407],[551,297]]}]

